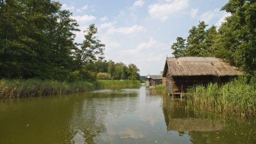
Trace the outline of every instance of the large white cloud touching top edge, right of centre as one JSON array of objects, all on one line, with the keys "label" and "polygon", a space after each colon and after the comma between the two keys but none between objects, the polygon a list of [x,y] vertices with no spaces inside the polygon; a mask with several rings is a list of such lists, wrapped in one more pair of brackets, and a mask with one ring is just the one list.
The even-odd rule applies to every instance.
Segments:
[{"label": "large white cloud touching top edge, right of centre", "polygon": [[189,0],[165,0],[167,3],[151,4],[148,6],[148,13],[152,18],[165,21],[172,15],[186,9],[188,7],[188,1]]}]

